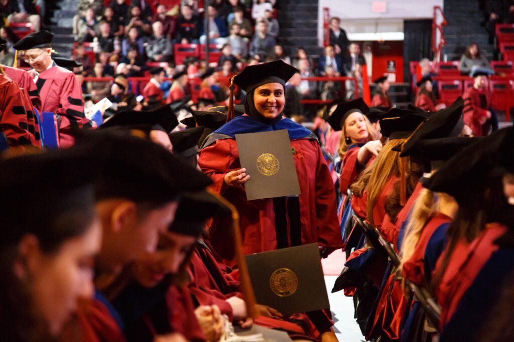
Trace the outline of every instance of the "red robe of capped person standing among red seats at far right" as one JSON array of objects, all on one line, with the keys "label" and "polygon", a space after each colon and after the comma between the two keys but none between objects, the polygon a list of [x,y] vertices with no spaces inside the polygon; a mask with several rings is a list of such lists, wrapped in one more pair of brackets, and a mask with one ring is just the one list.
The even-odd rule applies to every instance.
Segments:
[{"label": "red robe of capped person standing among red seats at far right", "polygon": [[[480,95],[485,95],[485,107],[482,106]],[[486,116],[487,108],[491,106],[491,97],[487,92],[469,87],[462,95],[464,99],[464,123],[471,128],[474,136],[482,136],[480,119]]]}]

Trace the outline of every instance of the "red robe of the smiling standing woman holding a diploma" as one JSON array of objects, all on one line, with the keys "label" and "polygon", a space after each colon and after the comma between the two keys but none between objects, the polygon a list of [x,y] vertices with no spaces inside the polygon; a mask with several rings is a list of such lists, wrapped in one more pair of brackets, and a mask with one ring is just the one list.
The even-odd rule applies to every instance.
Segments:
[{"label": "red robe of the smiling standing woman holding a diploma", "polygon": [[[322,247],[342,248],[343,242],[337,219],[336,195],[332,177],[318,142],[301,138],[291,140],[298,179],[302,244],[317,243]],[[271,251],[277,248],[273,199],[246,200],[244,189],[230,188],[224,177],[229,171],[241,168],[235,139],[218,139],[199,153],[198,165],[209,175],[212,189],[222,194],[240,214],[243,251],[245,254]],[[216,252],[233,265],[230,222],[213,220],[209,231]]]}]

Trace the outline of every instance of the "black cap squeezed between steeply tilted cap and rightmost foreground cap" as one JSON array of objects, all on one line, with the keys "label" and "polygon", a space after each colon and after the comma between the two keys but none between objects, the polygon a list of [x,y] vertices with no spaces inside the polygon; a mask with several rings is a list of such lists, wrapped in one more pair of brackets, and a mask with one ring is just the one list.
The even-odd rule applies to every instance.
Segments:
[{"label": "black cap squeezed between steeply tilted cap and rightmost foreground cap", "polygon": [[[435,139],[419,139],[409,150],[409,156],[419,164],[439,160],[446,161],[482,137],[450,136]],[[401,155],[400,155],[401,156]]]}]

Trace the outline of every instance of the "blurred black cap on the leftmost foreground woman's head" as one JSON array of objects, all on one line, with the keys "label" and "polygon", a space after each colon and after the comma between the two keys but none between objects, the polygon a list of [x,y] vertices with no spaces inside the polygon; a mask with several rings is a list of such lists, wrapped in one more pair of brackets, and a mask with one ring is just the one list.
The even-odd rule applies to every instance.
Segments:
[{"label": "blurred black cap on the leftmost foreground woman's head", "polygon": [[0,247],[16,244],[25,234],[62,238],[62,230],[50,228],[66,214],[94,217],[95,160],[76,148],[1,160],[0,191],[6,195],[0,198]]}]

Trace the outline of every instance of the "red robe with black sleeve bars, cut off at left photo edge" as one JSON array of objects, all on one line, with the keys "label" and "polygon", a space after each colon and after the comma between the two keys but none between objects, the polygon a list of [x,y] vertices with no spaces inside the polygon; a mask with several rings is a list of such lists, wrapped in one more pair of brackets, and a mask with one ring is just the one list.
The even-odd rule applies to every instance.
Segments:
[{"label": "red robe with black sleeve bars, cut off at left photo edge", "polygon": [[24,90],[0,74],[0,134],[11,148],[30,144],[27,108],[31,107]]}]

